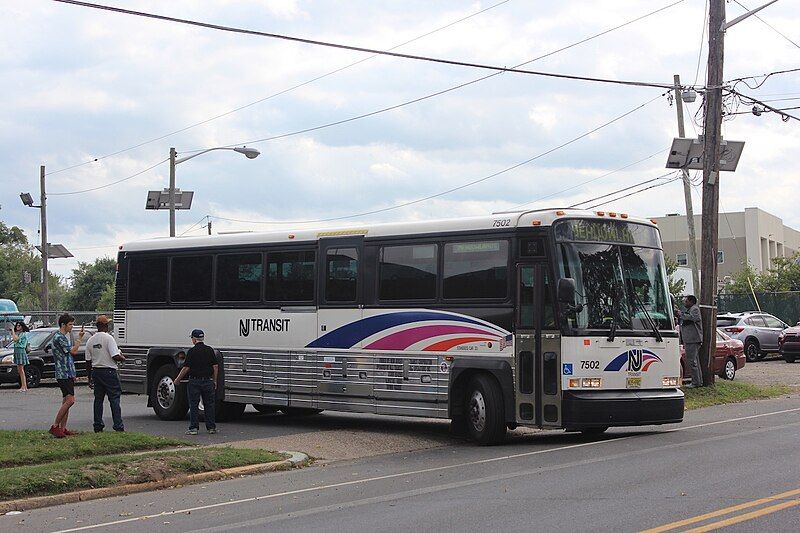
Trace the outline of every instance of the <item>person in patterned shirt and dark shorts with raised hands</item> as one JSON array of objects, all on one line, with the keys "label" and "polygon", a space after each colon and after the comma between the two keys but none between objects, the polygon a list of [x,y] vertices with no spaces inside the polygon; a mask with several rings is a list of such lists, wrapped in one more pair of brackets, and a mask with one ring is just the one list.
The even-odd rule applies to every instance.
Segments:
[{"label": "person in patterned shirt and dark shorts with raised hands", "polygon": [[75,359],[73,356],[78,353],[78,347],[86,333],[81,326],[78,340],[73,345],[69,335],[74,325],[75,319],[64,313],[58,317],[58,332],[53,337],[53,364],[62,400],[58,413],[56,413],[56,419],[50,427],[50,434],[59,439],[75,434],[67,429],[69,409],[75,403]]}]

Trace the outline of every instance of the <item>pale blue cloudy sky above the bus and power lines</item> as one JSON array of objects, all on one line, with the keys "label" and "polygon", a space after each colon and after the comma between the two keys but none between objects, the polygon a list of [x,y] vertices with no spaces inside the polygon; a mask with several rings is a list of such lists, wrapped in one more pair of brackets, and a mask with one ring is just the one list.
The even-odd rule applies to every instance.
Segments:
[{"label": "pale blue cloudy sky above the bus and power lines", "polygon": [[[513,66],[676,1],[105,3],[382,50],[428,34],[397,51]],[[762,2],[742,3],[752,8]],[[744,12],[737,2],[728,3],[727,9],[729,19]],[[677,2],[525,68],[659,83],[671,83],[673,74],[680,74],[686,84],[702,84],[706,10],[704,0]],[[725,79],[800,66],[800,48],[790,42],[800,43],[798,1],[781,0],[762,11],[761,18],[764,22],[751,18],[727,32]],[[64,244],[76,256],[53,262],[59,274],[68,274],[78,260],[114,255],[122,242],[168,234],[167,212],[146,211],[144,204],[148,190],[168,185],[164,160],[171,146],[183,155],[245,143],[262,152],[255,160],[211,152],[177,167],[178,186],[195,191],[192,209],[178,213],[178,233],[188,230],[191,235],[205,231],[205,226],[199,231],[191,227],[206,215],[215,232],[262,231],[286,227],[264,223],[269,221],[310,221],[390,208],[534,158],[449,194],[335,224],[485,214],[523,203],[532,208],[571,205],[663,175],[665,151],[677,136],[675,107],[660,96],[661,89],[516,73],[293,134],[491,72],[374,57],[292,89],[369,54],[45,0],[3,0],[0,36],[0,220],[23,227],[32,240],[38,238],[38,210],[24,208],[17,195],[30,191],[38,199],[39,166],[45,165],[50,241]],[[775,106],[800,106],[800,73],[773,76],[755,90],[744,85],[739,89],[775,100]],[[691,119],[699,102],[687,108],[690,136],[696,134]],[[537,157],[642,104],[591,135]],[[237,108],[243,109],[231,112]],[[178,133],[165,137],[173,132]],[[284,134],[293,135],[253,142]],[[784,123],[774,114],[742,114],[725,122],[723,135],[747,145],[737,172],[722,177],[722,209],[760,207],[800,227],[794,186],[800,178],[800,122]],[[159,162],[138,176],[102,187]],[[621,167],[628,168],[601,177]],[[92,188],[96,190],[80,192]],[[699,212],[697,194],[694,200]],[[646,216],[683,213],[682,186],[668,183],[607,208]]]}]

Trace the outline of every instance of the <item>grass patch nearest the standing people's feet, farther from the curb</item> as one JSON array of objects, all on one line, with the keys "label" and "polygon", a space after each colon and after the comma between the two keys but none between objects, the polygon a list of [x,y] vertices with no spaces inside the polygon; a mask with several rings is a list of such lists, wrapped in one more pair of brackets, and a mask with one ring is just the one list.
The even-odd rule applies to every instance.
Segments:
[{"label": "grass patch nearest the standing people's feet, farther from the curb", "polygon": [[143,433],[108,431],[54,439],[46,431],[0,431],[0,468],[188,445]]}]

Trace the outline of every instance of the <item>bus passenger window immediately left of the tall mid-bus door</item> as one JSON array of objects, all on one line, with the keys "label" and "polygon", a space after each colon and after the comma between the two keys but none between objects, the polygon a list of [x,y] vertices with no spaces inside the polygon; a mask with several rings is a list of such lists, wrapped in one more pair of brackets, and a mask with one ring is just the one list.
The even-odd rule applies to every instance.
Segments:
[{"label": "bus passenger window immediately left of the tall mid-bus door", "polygon": [[269,302],[312,302],[314,300],[315,254],[271,252],[267,254],[267,295]]}]

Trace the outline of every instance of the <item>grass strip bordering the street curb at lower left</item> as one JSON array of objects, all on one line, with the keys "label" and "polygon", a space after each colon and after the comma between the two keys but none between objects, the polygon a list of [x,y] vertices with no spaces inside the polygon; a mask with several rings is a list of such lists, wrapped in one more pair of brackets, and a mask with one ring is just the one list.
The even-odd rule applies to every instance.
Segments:
[{"label": "grass strip bordering the street curb at lower left", "polygon": [[[63,439],[66,441],[73,440]],[[51,442],[57,442],[53,439]],[[265,450],[194,448],[137,455],[105,455],[0,469],[0,500],[59,494],[80,489],[161,481],[195,474],[279,461]]]}]

